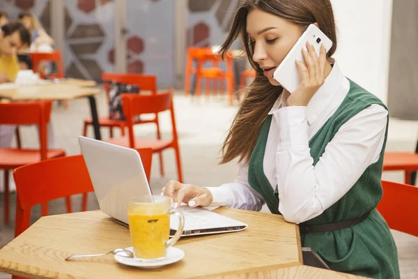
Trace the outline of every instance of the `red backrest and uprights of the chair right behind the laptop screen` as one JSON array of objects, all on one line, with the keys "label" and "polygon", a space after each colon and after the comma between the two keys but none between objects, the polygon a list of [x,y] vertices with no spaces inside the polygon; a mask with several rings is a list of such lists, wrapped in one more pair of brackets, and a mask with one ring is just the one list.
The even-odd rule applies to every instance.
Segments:
[{"label": "red backrest and uprights of the chair right behind the laptop screen", "polygon": [[134,116],[139,114],[157,114],[170,110],[173,142],[177,142],[176,119],[173,107],[173,89],[168,92],[153,95],[122,94],[122,109],[126,116],[126,126],[129,130],[130,147],[134,148]]}]

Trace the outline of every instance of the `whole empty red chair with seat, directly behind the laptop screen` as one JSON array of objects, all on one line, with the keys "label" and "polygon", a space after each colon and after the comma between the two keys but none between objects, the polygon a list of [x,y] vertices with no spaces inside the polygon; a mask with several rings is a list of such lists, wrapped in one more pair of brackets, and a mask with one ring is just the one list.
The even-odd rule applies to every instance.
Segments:
[{"label": "whole empty red chair with seat, directly behind the laptop screen", "polygon": [[[164,149],[173,148],[176,152],[178,181],[183,182],[183,174],[180,162],[180,149],[178,147],[178,137],[176,128],[176,119],[173,107],[173,90],[170,89],[166,93],[157,93],[155,95],[137,95],[122,94],[123,113],[126,116],[126,126],[128,129],[128,137],[114,137],[105,142],[117,144],[130,148],[150,148],[153,152],[161,152]],[[171,113],[171,140],[153,140],[134,137],[133,117],[139,114],[157,114],[169,110]]]}]

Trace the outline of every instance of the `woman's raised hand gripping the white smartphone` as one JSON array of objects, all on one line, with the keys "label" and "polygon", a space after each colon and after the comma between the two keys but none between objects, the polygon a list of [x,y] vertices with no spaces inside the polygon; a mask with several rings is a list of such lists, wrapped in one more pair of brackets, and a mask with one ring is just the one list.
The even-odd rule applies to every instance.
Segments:
[{"label": "woman's raised hand gripping the white smartphone", "polygon": [[325,64],[327,63],[327,52],[324,45],[320,45],[320,55],[316,54],[314,46],[307,42],[307,50],[302,50],[304,61],[296,61],[301,82],[297,89],[291,93],[286,100],[288,106],[307,106],[316,91],[325,82]]}]

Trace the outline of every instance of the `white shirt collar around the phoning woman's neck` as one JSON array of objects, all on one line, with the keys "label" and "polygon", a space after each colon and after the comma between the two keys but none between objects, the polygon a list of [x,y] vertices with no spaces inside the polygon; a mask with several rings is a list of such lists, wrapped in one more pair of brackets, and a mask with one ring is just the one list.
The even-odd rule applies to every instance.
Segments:
[{"label": "white shirt collar around the phoning woman's neck", "polygon": [[[314,97],[311,98],[311,101],[307,105],[307,120],[309,125],[314,123],[318,115],[325,107],[327,107],[336,92],[339,91],[344,79],[346,79],[346,77],[344,77],[343,73],[341,73],[337,63],[334,62],[330,75],[327,76],[323,86],[320,86],[320,89],[316,91]],[[286,107],[287,98],[288,93],[282,93],[279,98],[277,98],[268,114],[273,114],[273,112],[279,110],[279,108]]]}]

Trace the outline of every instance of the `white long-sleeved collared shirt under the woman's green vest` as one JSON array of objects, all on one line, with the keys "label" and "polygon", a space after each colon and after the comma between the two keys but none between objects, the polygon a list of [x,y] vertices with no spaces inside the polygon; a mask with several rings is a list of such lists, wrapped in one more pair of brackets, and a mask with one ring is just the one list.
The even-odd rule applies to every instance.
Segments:
[{"label": "white long-sleeved collared shirt under the woman's green vest", "polygon": [[[279,191],[279,211],[288,222],[319,216],[345,195],[382,151],[387,110],[371,105],[341,126],[314,166],[309,140],[341,105],[350,82],[334,63],[325,83],[307,107],[286,107],[288,96],[274,103],[263,159],[264,174]],[[238,163],[232,183],[208,187],[212,205],[260,211],[265,203],[248,183],[248,167]]]}]

